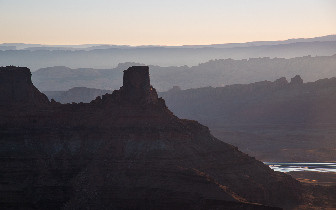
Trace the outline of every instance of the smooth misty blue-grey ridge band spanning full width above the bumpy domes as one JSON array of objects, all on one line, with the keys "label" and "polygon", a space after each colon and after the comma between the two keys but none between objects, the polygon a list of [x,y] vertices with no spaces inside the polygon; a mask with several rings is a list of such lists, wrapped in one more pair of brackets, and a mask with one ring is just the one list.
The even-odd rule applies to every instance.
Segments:
[{"label": "smooth misty blue-grey ridge band spanning full width above the bumpy domes", "polygon": [[262,45],[234,48],[110,48],[94,50],[6,50],[0,51],[0,66],[28,66],[40,68],[66,66],[71,69],[111,69],[118,63],[139,62],[155,66],[196,66],[208,60],[248,59],[251,57],[292,58],[302,56],[331,56],[336,54],[336,41],[296,42],[280,45]]}]

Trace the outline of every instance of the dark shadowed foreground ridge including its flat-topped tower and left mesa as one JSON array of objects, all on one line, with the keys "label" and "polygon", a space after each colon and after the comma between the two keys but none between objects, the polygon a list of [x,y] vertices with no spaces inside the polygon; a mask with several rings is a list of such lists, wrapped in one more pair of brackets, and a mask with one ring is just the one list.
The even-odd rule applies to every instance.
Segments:
[{"label": "dark shadowed foreground ridge including its flat-topped tower and left mesa", "polygon": [[[0,68],[2,209],[278,209],[301,185],[178,119],[149,67],[90,103],[61,104],[25,67]],[[249,203],[250,202],[250,203]],[[253,204],[259,203],[259,204]]]}]

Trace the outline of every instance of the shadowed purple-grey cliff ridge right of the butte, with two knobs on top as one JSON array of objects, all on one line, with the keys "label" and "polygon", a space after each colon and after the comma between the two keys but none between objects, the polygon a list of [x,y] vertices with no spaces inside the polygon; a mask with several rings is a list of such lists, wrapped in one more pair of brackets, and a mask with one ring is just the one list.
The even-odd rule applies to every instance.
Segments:
[{"label": "shadowed purple-grey cliff ridge right of the butte, with two knobs on top", "polygon": [[303,83],[299,75],[288,82],[206,87],[159,92],[177,116],[223,123],[334,123],[336,77]]}]

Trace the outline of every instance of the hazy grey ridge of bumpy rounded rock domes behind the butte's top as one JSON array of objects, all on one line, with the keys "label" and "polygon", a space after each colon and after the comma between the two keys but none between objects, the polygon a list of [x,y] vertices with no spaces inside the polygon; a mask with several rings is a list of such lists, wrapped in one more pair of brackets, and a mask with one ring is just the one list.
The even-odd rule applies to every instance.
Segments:
[{"label": "hazy grey ridge of bumpy rounded rock domes behind the butte's top", "polygon": [[[114,69],[54,66],[32,72],[32,80],[41,91],[67,91],[74,87],[114,90],[122,86],[122,71],[128,67],[144,65],[125,62]],[[301,75],[305,82],[320,78],[336,77],[336,55],[297,58],[250,58],[242,60],[219,59],[193,67],[160,67],[151,69],[151,84],[158,91],[168,91],[173,86],[181,89],[200,87],[223,87],[233,84],[250,84],[288,76]]]}]

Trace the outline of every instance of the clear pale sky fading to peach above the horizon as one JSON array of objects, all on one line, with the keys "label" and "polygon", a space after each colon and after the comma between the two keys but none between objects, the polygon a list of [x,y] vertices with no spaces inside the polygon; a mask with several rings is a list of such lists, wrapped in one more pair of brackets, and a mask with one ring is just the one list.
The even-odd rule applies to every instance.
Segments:
[{"label": "clear pale sky fading to peach above the horizon", "polygon": [[0,0],[0,43],[206,45],[336,34],[335,0]]}]

